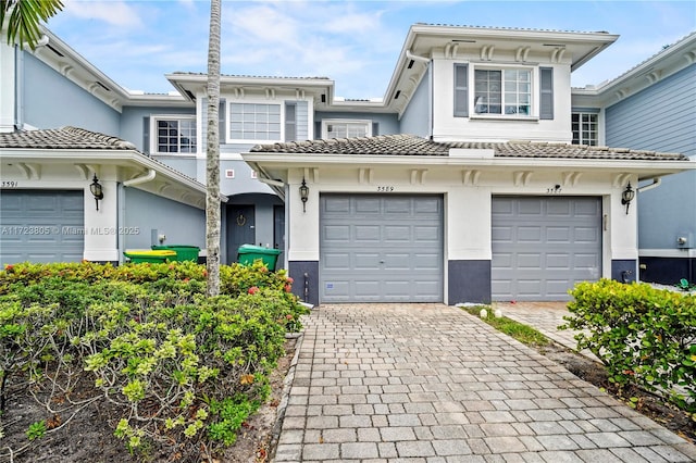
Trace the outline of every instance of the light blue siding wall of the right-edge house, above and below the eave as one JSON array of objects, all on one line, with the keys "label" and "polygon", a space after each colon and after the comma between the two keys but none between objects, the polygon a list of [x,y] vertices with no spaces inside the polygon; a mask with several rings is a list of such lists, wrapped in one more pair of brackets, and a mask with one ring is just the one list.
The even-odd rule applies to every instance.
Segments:
[{"label": "light blue siding wall of the right-edge house, above and below the eave", "polygon": [[[696,159],[696,64],[606,110],[607,145],[681,152]],[[676,249],[696,236],[696,172],[664,177],[638,195],[641,249]],[[696,247],[696,243],[694,243]]]}]

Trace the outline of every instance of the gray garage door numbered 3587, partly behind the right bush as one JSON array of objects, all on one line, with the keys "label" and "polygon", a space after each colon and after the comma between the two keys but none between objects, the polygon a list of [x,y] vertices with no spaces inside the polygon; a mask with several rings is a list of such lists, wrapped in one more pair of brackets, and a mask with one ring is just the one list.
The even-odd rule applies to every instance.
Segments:
[{"label": "gray garage door numbered 3587, partly behind the right bush", "polygon": [[493,300],[564,301],[599,279],[599,198],[494,198],[492,222]]}]

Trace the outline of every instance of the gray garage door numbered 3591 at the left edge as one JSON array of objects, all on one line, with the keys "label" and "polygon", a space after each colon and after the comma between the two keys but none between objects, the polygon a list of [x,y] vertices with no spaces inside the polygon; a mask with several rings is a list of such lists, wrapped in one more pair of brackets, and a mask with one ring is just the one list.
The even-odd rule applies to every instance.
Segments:
[{"label": "gray garage door numbered 3591 at the left edge", "polygon": [[84,223],[83,191],[2,190],[0,264],[79,262]]}]

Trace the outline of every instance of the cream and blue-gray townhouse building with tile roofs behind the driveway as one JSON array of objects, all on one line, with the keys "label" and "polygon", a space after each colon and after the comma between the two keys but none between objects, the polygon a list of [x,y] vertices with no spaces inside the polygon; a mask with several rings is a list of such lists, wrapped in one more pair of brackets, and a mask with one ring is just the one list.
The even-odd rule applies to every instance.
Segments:
[{"label": "cream and blue-gray townhouse building with tile roofs behind the driveway", "polygon": [[[73,190],[76,223],[116,230],[85,233],[84,259],[122,261],[164,236],[203,248],[206,75],[169,74],[176,92],[135,95],[47,36],[35,53],[1,49],[14,102],[2,127],[45,129],[0,135],[2,226],[14,213],[30,227],[42,220],[32,204]],[[223,263],[241,243],[278,248],[311,303],[563,300],[576,281],[635,279],[638,214],[622,195],[694,163],[668,148],[571,145],[585,122],[574,109],[612,111],[596,95],[576,103],[571,72],[616,39],[414,25],[380,101],[336,98],[324,77],[223,75]],[[80,129],[50,132],[65,125]],[[40,260],[36,239],[0,238],[3,263]]]}]

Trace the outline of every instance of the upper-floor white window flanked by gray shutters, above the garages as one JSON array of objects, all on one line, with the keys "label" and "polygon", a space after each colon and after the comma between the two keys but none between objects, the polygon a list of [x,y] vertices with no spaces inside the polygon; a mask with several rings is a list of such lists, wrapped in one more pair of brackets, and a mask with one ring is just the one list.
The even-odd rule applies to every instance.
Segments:
[{"label": "upper-floor white window flanked by gray shutters, above the garages", "polygon": [[455,64],[453,96],[455,117],[469,117],[473,108],[472,113],[476,115],[550,120],[554,118],[554,70],[539,67],[537,73],[531,67],[496,68],[458,63]]}]

